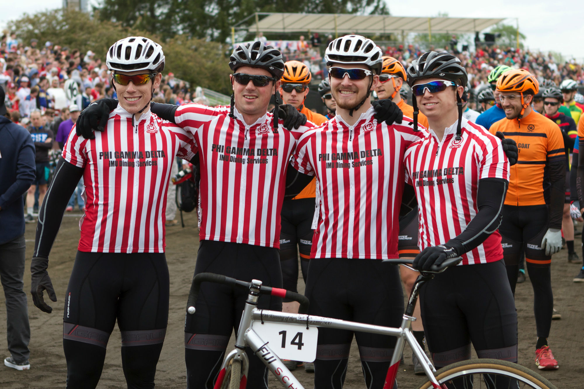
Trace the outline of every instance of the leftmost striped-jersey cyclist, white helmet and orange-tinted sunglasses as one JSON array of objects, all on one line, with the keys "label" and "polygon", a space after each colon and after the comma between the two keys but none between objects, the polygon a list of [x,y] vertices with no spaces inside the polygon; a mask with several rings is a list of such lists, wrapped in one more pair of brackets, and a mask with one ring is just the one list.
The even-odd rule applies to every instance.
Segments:
[{"label": "leftmost striped-jersey cyclist, white helmet and orange-tinted sunglasses", "polygon": [[65,294],[63,349],[67,388],[95,388],[109,336],[117,323],[127,385],[154,388],[168,319],[166,191],[176,156],[194,157],[193,136],[150,112],[160,85],[164,54],[143,37],[117,41],[107,66],[120,105],[103,132],[69,135],[39,212],[32,272],[34,305],[50,313],[48,255],[71,193],[85,182],[81,239]]}]

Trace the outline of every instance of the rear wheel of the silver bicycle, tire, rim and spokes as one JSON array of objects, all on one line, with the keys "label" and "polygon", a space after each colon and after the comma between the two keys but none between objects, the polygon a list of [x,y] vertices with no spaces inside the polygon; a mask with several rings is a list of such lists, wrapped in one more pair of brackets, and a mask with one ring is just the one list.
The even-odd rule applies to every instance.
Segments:
[{"label": "rear wheel of the silver bicycle, tire, rim and spokes", "polygon": [[[537,388],[556,389],[556,387],[520,364],[499,359],[471,359],[449,364],[436,371],[436,379],[443,388]],[[420,389],[432,388],[432,383]]]}]

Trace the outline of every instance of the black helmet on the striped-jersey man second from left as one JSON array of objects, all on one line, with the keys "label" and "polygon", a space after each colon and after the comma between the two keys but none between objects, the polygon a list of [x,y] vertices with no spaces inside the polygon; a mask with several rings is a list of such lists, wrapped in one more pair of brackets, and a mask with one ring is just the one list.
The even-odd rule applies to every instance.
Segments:
[{"label": "black helmet on the striped-jersey man second from left", "polygon": [[242,44],[233,50],[229,58],[229,67],[235,72],[241,66],[265,69],[272,73],[276,81],[284,74],[282,53],[273,46],[266,46],[259,40]]}]

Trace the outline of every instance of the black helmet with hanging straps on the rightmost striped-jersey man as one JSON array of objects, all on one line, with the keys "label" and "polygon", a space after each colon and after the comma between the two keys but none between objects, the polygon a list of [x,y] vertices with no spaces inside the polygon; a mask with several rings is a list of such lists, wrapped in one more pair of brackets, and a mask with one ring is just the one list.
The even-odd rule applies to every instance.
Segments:
[{"label": "black helmet with hanging straps on the rightmost striped-jersey man", "polygon": [[[467,70],[460,64],[458,57],[450,53],[436,53],[428,51],[422,54],[418,60],[412,61],[408,67],[408,84],[412,86],[416,81],[424,78],[443,78],[452,81],[457,85],[466,86],[468,84]],[[458,106],[458,126],[456,128],[456,139],[461,139],[461,126],[463,120],[463,102],[460,95],[456,93]],[[413,106],[413,129],[418,131],[418,102],[415,96],[412,98]]]}]

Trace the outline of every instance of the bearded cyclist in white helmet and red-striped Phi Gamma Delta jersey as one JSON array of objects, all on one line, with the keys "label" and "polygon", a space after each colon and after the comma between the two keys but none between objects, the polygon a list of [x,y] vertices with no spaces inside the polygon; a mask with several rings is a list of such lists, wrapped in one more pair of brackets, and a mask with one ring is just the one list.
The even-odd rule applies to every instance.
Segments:
[{"label": "bearded cyclist in white helmet and red-striped Phi Gamma Delta jersey", "polygon": [[[336,116],[301,137],[288,172],[288,179],[316,176],[318,182],[306,286],[309,313],[399,326],[404,309],[399,271],[379,260],[398,256],[402,159],[424,133],[413,130],[407,118],[391,126],[374,119],[369,96],[383,60],[373,41],[339,37],[326,48],[325,58]],[[383,387],[395,338],[354,336],[366,387]],[[342,387],[352,338],[352,331],[319,330],[316,388]]]}]

